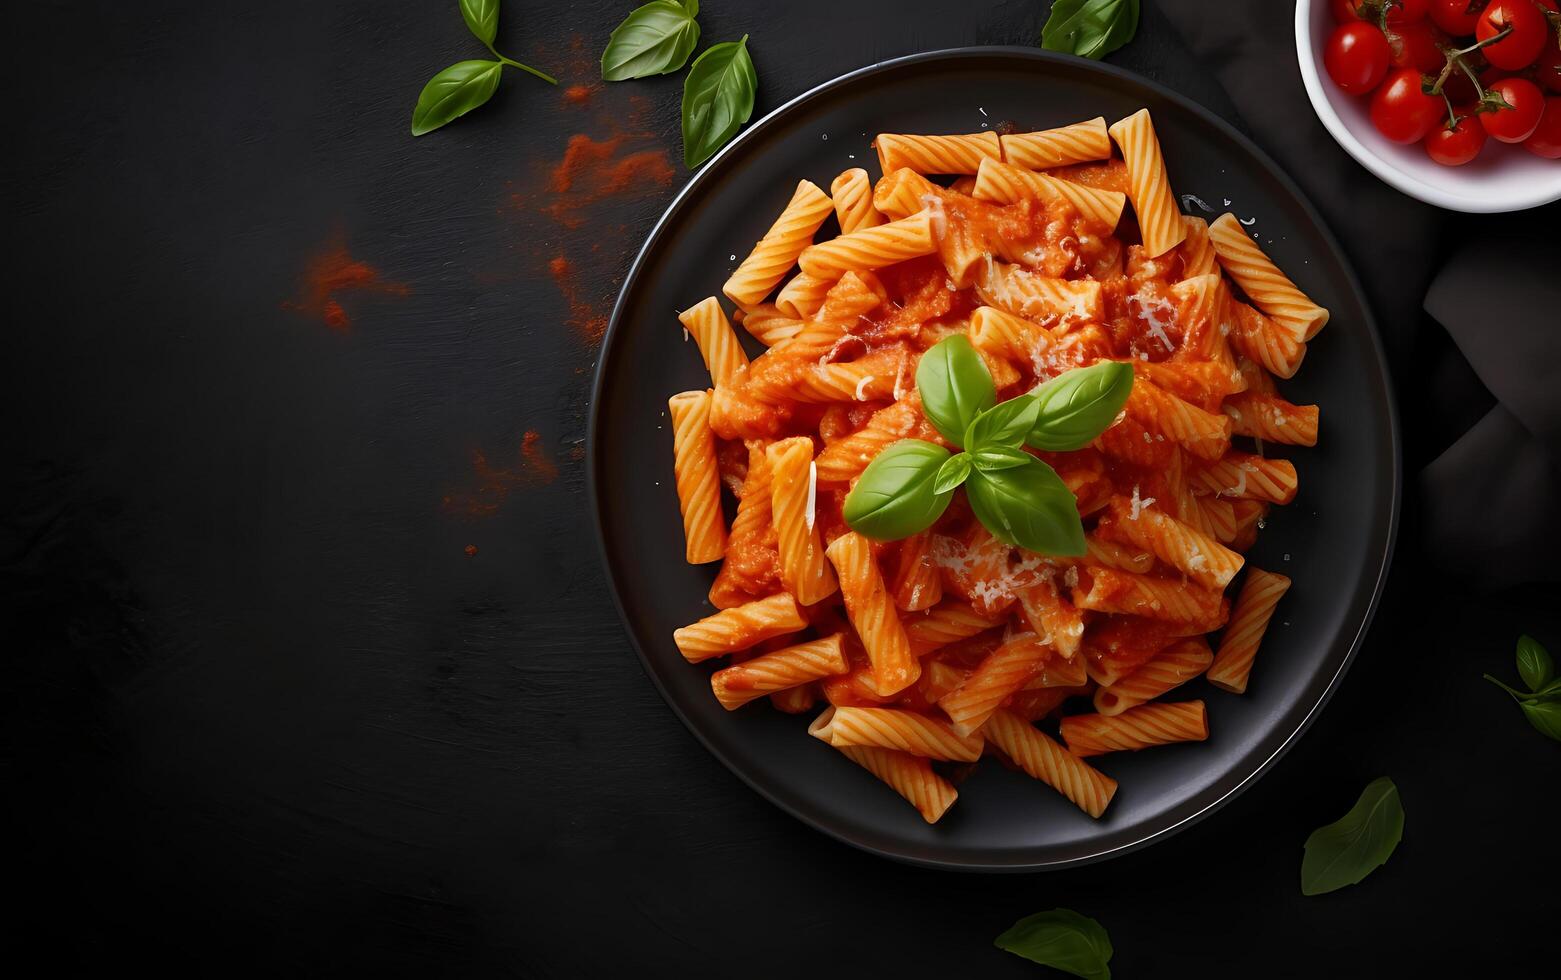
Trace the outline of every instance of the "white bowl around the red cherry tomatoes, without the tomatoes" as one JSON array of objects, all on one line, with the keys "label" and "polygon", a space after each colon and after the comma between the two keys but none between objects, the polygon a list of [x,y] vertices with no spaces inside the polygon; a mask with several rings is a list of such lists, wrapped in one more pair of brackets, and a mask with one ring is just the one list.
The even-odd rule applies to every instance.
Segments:
[{"label": "white bowl around the red cherry tomatoes, without the tomatoes", "polygon": [[1311,108],[1363,167],[1410,197],[1450,211],[1524,211],[1561,200],[1561,162],[1522,147],[1486,140],[1474,161],[1444,167],[1425,154],[1424,144],[1388,142],[1371,125],[1371,95],[1344,92],[1322,67],[1322,50],[1335,27],[1324,0],[1296,5],[1296,56]]}]

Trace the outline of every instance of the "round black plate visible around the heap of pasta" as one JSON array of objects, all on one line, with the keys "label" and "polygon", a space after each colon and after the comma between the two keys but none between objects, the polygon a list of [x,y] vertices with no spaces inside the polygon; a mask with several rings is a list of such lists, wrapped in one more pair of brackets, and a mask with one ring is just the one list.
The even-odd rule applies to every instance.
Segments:
[{"label": "round black plate visible around the heap of pasta", "polygon": [[[673,629],[712,610],[715,565],[684,563],[671,479],[667,398],[709,378],[676,312],[718,293],[787,201],[798,178],[827,187],[845,167],[877,172],[876,133],[1021,130],[1141,106],[1154,114],[1171,183],[1216,212],[1224,201],[1263,248],[1333,311],[1288,398],[1322,406],[1316,449],[1291,453],[1300,493],[1268,520],[1250,560],[1294,587],[1244,696],[1199,680],[1210,740],[1108,755],[1121,780],[1093,821],[1049,788],[996,765],[960,785],[929,827],[913,808],[834,749],[807,718],[768,705],[727,713],[710,694],[716,665],[688,666]],[[1213,217],[1213,215],[1210,215]],[[746,337],[745,337],[746,340]],[[757,350],[757,348],[756,348]],[[849,844],[937,868],[1040,869],[1141,847],[1230,799],[1305,730],[1349,666],[1392,552],[1399,437],[1381,345],[1355,273],[1317,212],[1230,125],[1186,98],[1110,66],[1032,48],[962,48],[876,64],[776,109],[726,147],[667,209],[629,270],[596,371],[588,435],[592,507],[607,577],[646,673],[693,733],[776,805]]]}]

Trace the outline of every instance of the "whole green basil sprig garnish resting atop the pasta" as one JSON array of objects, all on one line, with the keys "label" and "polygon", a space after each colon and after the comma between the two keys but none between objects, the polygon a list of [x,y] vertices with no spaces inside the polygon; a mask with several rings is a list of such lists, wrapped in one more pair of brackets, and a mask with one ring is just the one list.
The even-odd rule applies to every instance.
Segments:
[{"label": "whole green basil sprig garnish resting atop the pasta", "polygon": [[1001,404],[987,364],[963,334],[940,340],[916,365],[921,409],[948,449],[902,439],[868,463],[846,496],[852,531],[898,540],[930,527],[965,487],[976,520],[997,540],[1040,554],[1085,552],[1079,504],[1057,471],[1024,451],[1077,449],[1116,421],[1133,368],[1076,368]]}]

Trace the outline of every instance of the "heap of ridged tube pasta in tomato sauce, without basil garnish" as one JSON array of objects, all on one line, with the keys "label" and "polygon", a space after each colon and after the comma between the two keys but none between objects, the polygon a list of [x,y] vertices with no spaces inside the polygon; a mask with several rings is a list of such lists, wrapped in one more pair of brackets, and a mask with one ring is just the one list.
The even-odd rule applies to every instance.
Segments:
[{"label": "heap of ridged tube pasta in tomato sauce, without basil garnish", "polygon": [[[1202,696],[1252,679],[1291,582],[1244,552],[1300,490],[1288,446],[1317,443],[1319,407],[1280,381],[1327,311],[1232,215],[1179,212],[1147,111],[876,148],[876,179],[798,184],[723,286],[731,320],[721,296],[679,314],[710,384],[668,401],[685,557],[720,570],[715,609],[673,640],[690,663],[729,657],[706,668],[721,707],[809,716],[929,824],[987,755],[1099,818],[1113,752],[1210,738]],[[990,376],[987,404],[1130,365],[1105,371],[1132,379],[1115,418],[1021,432],[1029,457],[1002,457],[1044,462],[1072,495],[1069,554],[1008,543],[968,487],[927,490],[948,499],[894,540],[851,510],[896,443],[926,445],[874,473],[907,451],[941,473],[966,448],[951,440],[979,439],[923,403],[918,368],[949,337]]]}]

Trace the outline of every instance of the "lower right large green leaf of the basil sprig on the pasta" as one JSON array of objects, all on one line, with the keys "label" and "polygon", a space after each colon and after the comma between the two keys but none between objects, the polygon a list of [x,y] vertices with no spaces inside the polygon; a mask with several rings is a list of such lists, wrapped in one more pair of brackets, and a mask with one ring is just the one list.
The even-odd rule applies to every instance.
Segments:
[{"label": "lower right large green leaf of the basil sprig on the pasta", "polygon": [[976,470],[965,481],[965,496],[999,541],[1037,554],[1085,552],[1083,521],[1072,490],[1033,456],[1010,470]]}]

